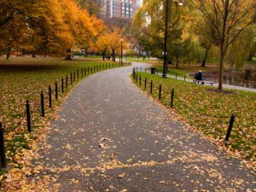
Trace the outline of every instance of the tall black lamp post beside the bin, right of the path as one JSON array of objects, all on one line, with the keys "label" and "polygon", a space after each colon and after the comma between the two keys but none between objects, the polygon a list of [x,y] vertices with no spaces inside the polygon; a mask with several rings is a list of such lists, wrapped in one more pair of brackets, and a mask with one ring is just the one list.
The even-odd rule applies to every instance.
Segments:
[{"label": "tall black lamp post beside the bin, right of the path", "polygon": [[[178,1],[178,5],[183,5],[183,0]],[[165,29],[165,47],[164,47],[164,70],[162,77],[167,77],[167,28],[168,28],[168,8],[169,8],[169,0],[166,0],[166,29]]]}]

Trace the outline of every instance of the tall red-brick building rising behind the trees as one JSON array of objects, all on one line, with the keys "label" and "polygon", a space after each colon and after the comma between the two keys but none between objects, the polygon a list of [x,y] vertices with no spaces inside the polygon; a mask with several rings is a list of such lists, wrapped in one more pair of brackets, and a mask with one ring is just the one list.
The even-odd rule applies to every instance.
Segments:
[{"label": "tall red-brick building rising behind the trees", "polygon": [[105,0],[105,13],[107,18],[133,19],[142,0]]}]

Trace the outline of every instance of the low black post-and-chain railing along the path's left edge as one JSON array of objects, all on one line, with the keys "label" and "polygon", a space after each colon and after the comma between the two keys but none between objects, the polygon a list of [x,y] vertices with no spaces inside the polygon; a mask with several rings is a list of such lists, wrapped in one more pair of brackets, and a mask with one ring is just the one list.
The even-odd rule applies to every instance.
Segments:
[{"label": "low black post-and-chain railing along the path's left edge", "polygon": [[[49,84],[47,93],[45,93],[44,90],[41,90],[40,94],[38,94],[40,102],[31,102],[29,100],[26,100],[26,102],[24,103],[24,112],[16,114],[16,116],[20,117],[18,122],[16,121],[16,125],[13,125],[12,127],[9,127],[9,129],[7,129],[6,126],[3,125],[3,122],[0,122],[0,168],[5,168],[7,165],[4,134],[11,133],[18,129],[20,129],[19,131],[24,131],[24,126],[26,126],[27,132],[31,132],[33,125],[32,114],[37,117],[44,118],[47,111],[46,108],[53,108],[53,98],[55,99],[55,101],[58,101],[60,99],[60,96],[64,96],[64,93],[67,92],[69,90],[69,87],[72,87],[78,79],[83,79],[92,73],[100,72],[102,70],[126,66],[131,66],[131,62],[104,63],[93,67],[83,67],[77,69],[73,72],[70,72],[69,74],[61,76],[61,79],[59,81],[55,80],[55,83],[53,85]],[[45,104],[48,104],[48,107]]]}]

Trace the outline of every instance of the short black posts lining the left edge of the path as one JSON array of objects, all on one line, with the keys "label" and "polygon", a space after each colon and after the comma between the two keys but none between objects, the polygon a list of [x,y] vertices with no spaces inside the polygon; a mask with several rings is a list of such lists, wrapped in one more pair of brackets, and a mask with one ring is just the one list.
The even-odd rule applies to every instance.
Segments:
[{"label": "short black posts lining the left edge of the path", "polygon": [[[111,67],[111,64],[109,63],[109,67]],[[112,66],[113,67],[113,66]],[[107,64],[105,66],[107,68]],[[93,67],[88,67],[87,68],[87,73],[92,73]],[[94,67],[94,71],[98,71],[103,69],[103,67]],[[83,73],[84,72],[84,73]],[[81,69],[81,76],[84,77],[86,75],[86,68],[84,67],[84,70]],[[77,70],[77,78],[79,79],[79,70]],[[73,84],[73,81],[76,80],[76,74],[75,73],[70,73],[70,84]],[[68,87],[68,77],[66,76],[66,88]],[[51,86],[49,85],[48,87],[49,90],[49,108],[52,108],[52,89]],[[61,92],[64,93],[64,78],[61,77]],[[41,90],[41,116],[45,116],[44,112],[44,92]],[[58,83],[55,81],[55,99],[58,100]],[[30,103],[28,100],[26,100],[26,127],[27,131],[31,132],[32,131],[32,126],[31,126],[31,108],[30,108]],[[6,155],[5,155],[5,147],[4,147],[4,131],[3,131],[3,124],[0,122],[0,168],[4,169],[6,168],[7,163],[6,163]]]}]

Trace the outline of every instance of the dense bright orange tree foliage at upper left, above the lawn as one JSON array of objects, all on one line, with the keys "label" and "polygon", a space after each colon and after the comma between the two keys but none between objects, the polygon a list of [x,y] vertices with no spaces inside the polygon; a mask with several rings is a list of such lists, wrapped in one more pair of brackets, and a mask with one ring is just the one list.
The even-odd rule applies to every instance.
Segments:
[{"label": "dense bright orange tree foliage at upper left, above the lawn", "polygon": [[0,13],[0,51],[7,55],[65,55],[92,44],[105,27],[75,0],[3,0]]}]

